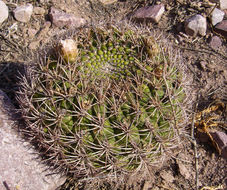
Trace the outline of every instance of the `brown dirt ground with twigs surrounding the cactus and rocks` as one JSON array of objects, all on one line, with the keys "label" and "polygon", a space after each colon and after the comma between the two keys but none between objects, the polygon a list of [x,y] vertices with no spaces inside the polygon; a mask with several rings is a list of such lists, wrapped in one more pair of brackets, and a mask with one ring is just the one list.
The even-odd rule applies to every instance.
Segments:
[{"label": "brown dirt ground with twigs surrounding the cactus and rocks", "polygon": [[[221,101],[226,108],[227,103],[227,43],[226,39],[215,33],[208,23],[205,37],[189,37],[184,33],[183,21],[194,14],[206,13],[207,7],[200,0],[121,0],[112,5],[103,6],[95,0],[50,0],[50,1],[4,1],[10,10],[9,18],[0,28],[0,89],[8,94],[13,103],[17,90],[17,77],[23,73],[26,63],[33,60],[39,49],[45,46],[53,36],[67,29],[48,26],[47,14],[54,6],[68,13],[84,17],[88,23],[114,23],[123,19],[130,20],[131,13],[139,7],[161,2],[165,5],[165,13],[158,24],[142,23],[157,33],[168,36],[169,43],[181,52],[185,64],[184,75],[190,80],[190,96],[193,104],[188,115],[207,108],[215,101]],[[28,23],[17,22],[12,15],[16,5],[32,3],[34,7],[42,7],[45,14],[33,14]],[[130,21],[129,21],[130,22]],[[137,23],[134,23],[137,24]],[[137,24],[138,27],[141,26]],[[47,27],[46,30],[43,30]],[[44,31],[44,32],[43,32]],[[209,40],[213,35],[222,39],[222,46],[213,49]],[[32,45],[31,45],[32,44]],[[32,47],[32,49],[31,49]],[[197,109],[195,108],[198,104]],[[223,110],[222,121],[225,128],[217,127],[214,131],[226,130],[227,109]],[[192,117],[190,118],[193,120]],[[220,157],[210,142],[201,143],[197,138],[197,153],[190,138],[191,122],[186,126],[186,135],[182,137],[181,146],[170,155],[162,166],[154,169],[152,179],[138,180],[128,185],[128,189],[227,189],[227,161]],[[193,141],[194,142],[194,141]],[[198,165],[196,162],[198,161]],[[198,176],[196,176],[196,173]],[[130,183],[130,182],[128,182]],[[219,187],[219,188],[218,188]],[[119,189],[127,189],[119,187]],[[210,190],[214,190],[215,188]]]}]

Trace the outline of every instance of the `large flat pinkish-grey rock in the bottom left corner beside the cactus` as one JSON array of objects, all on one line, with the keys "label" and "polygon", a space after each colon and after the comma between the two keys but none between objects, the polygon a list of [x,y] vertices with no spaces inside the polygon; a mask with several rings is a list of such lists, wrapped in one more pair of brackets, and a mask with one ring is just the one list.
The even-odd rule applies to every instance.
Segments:
[{"label": "large flat pinkish-grey rock in the bottom left corner beside the cactus", "polygon": [[[51,174],[15,130],[13,105],[0,90],[0,189],[55,190],[65,177]],[[51,175],[50,175],[51,174]]]}]

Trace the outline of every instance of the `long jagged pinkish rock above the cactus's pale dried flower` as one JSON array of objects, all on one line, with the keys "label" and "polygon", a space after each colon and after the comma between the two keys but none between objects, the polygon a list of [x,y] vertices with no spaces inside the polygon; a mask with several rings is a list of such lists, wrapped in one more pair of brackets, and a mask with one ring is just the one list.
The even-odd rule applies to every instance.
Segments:
[{"label": "long jagged pinkish rock above the cactus's pale dried flower", "polygon": [[73,14],[65,13],[64,11],[58,10],[51,7],[49,13],[52,24],[57,27],[81,27],[86,24],[86,20],[81,17],[76,17]]}]

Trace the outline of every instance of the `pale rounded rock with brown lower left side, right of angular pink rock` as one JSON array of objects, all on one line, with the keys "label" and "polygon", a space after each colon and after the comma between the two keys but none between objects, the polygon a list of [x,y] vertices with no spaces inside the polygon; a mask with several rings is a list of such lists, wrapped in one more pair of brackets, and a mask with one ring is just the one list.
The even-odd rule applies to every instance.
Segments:
[{"label": "pale rounded rock with brown lower left side, right of angular pink rock", "polygon": [[206,30],[207,30],[206,18],[199,14],[189,18],[185,22],[185,32],[187,35],[196,36],[199,34],[201,36],[205,36]]}]

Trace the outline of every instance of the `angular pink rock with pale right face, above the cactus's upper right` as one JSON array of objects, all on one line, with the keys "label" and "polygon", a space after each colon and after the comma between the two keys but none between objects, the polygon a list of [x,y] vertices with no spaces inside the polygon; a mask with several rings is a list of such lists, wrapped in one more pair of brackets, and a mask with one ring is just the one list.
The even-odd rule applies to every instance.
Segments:
[{"label": "angular pink rock with pale right face, above the cactus's upper right", "polygon": [[153,22],[159,22],[161,16],[165,12],[165,7],[162,4],[147,6],[139,8],[134,14],[133,18],[137,20],[147,20]]}]

